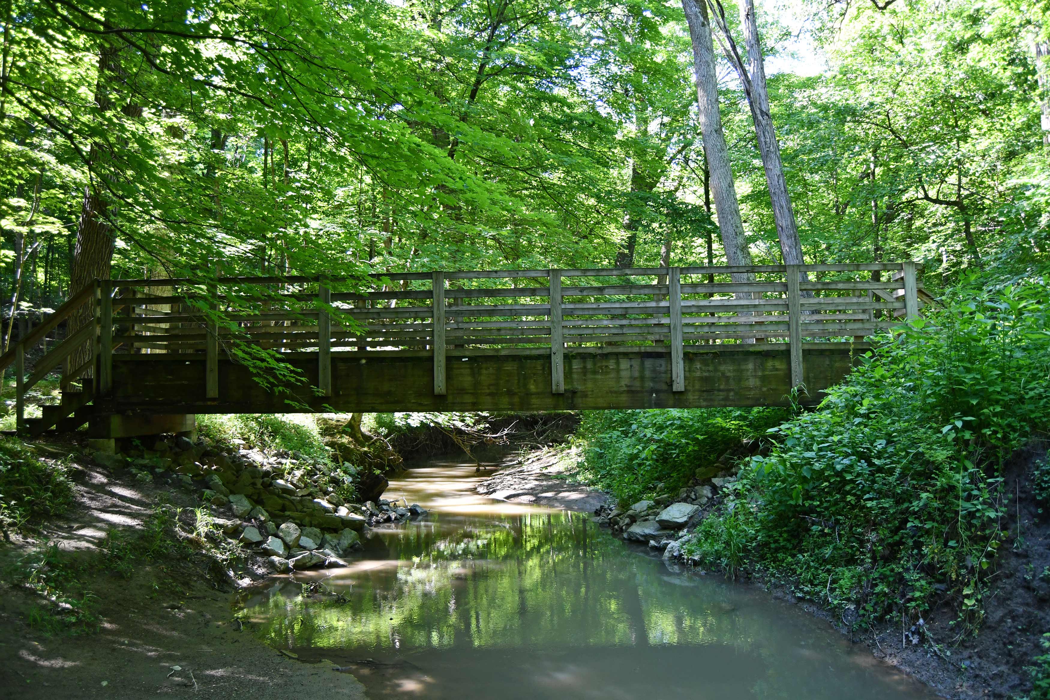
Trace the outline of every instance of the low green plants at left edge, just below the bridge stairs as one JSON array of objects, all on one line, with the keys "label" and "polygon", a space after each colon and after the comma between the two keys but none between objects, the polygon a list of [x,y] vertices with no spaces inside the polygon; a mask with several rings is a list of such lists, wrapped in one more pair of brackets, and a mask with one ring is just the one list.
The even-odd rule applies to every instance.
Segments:
[{"label": "low green plants at left edge, just below the bridge stairs", "polygon": [[63,462],[42,462],[21,441],[0,439],[0,528],[61,513],[71,502],[72,483]]}]

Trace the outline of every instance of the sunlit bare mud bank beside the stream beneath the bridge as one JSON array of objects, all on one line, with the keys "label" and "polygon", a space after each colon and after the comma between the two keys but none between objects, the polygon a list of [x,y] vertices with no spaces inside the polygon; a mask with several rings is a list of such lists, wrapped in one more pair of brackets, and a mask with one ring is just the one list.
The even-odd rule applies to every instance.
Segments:
[{"label": "sunlit bare mud bank beside the stream beneath the bridge", "polygon": [[611,496],[566,480],[567,461],[554,450],[540,450],[524,464],[503,469],[478,485],[478,493],[500,501],[593,512]]}]

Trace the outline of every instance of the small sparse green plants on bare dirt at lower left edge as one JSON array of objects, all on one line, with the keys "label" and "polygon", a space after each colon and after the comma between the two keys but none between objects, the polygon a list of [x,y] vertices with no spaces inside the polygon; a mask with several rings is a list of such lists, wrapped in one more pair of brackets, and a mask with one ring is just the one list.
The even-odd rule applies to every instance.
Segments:
[{"label": "small sparse green plants on bare dirt at lower left edge", "polygon": [[28,614],[29,625],[45,634],[84,634],[99,629],[97,599],[83,582],[83,567],[57,543],[24,554],[8,567],[7,580],[33,591],[41,604]]}]

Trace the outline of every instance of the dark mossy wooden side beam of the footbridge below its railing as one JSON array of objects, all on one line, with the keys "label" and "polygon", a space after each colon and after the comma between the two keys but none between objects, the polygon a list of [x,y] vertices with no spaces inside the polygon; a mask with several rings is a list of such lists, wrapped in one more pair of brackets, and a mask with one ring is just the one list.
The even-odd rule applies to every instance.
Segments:
[{"label": "dark mossy wooden side beam of the footbridge below its railing", "polygon": [[[803,346],[808,396],[847,374],[861,343]],[[434,394],[429,352],[332,354],[331,396],[316,395],[316,354],[285,360],[306,380],[288,391],[262,386],[244,365],[218,363],[218,398],[206,398],[206,362],[198,355],[114,355],[111,398],[97,399],[99,413],[266,413],[297,411],[533,411],[604,408],[777,406],[789,402],[791,357],[785,344],[719,345],[685,352],[685,390],[673,391],[670,352],[654,346],[594,347],[565,353],[565,393],[551,393],[549,351],[508,354],[447,351],[447,393]],[[593,352],[591,352],[593,351]]]}]

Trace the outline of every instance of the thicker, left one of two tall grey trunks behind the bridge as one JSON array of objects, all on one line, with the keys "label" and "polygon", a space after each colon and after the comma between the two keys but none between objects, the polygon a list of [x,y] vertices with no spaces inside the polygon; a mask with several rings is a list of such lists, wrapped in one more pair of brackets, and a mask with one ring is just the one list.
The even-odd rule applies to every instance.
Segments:
[{"label": "thicker, left one of two tall grey trunks behind the bridge", "polygon": [[[681,0],[693,44],[693,75],[696,79],[696,101],[699,104],[700,134],[704,154],[711,178],[711,194],[718,216],[726,261],[729,264],[751,264],[751,251],[743,235],[740,206],[733,186],[733,169],[718,112],[718,77],[715,75],[715,49],[711,23],[704,0]],[[754,275],[733,275],[734,281],[751,281]]]}]

